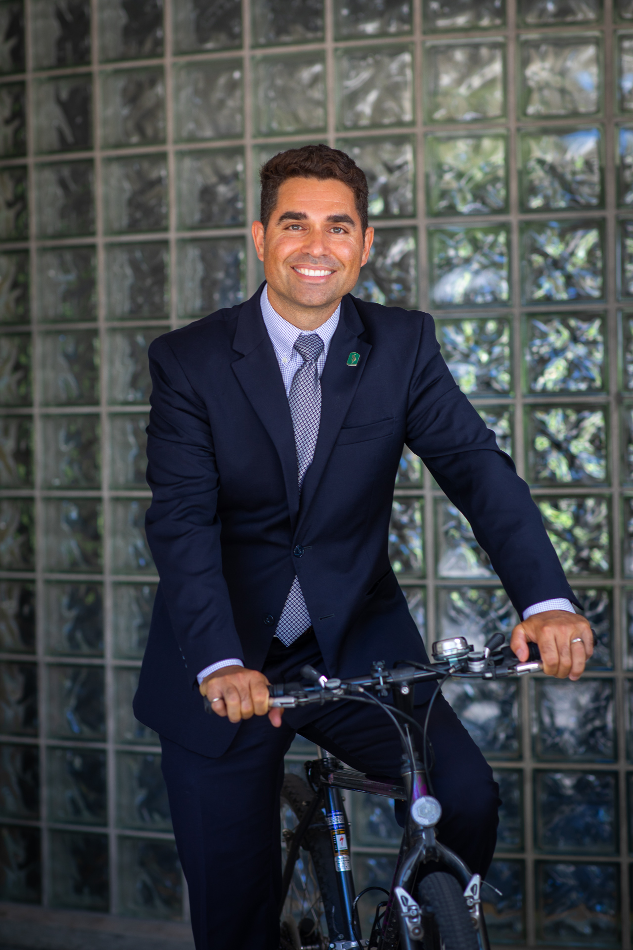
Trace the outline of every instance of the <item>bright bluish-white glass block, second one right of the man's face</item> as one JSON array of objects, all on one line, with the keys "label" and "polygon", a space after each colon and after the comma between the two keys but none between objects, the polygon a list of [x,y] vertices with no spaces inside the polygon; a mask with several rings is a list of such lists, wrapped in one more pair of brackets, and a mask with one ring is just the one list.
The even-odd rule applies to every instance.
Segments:
[{"label": "bright bluish-white glass block, second one right of the man's face", "polygon": [[506,225],[429,228],[431,294],[437,307],[510,301]]}]

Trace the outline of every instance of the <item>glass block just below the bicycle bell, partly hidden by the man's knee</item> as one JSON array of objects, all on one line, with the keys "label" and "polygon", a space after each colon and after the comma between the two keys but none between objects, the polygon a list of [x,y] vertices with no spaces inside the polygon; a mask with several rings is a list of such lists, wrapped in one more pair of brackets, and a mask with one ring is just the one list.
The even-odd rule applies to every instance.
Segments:
[{"label": "glass block just below the bicycle bell, partly hidden by the man's knee", "polygon": [[517,684],[504,679],[489,682],[450,680],[442,687],[484,755],[517,759],[521,753]]}]

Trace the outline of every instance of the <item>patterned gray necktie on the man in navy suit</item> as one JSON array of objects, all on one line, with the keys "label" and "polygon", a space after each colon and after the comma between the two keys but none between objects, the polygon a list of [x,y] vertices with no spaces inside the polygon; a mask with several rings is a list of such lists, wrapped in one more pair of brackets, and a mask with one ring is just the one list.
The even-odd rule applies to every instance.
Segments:
[{"label": "patterned gray necktie on the man in navy suit", "polygon": [[[295,341],[294,349],[304,358],[303,366],[299,367],[292,377],[288,397],[292,428],[294,428],[294,444],[297,450],[299,491],[301,491],[307,469],[314,458],[314,449],[319,435],[321,380],[317,362],[324,351],[324,342],[318,333],[300,333]],[[294,640],[301,637],[311,622],[299,578],[295,577],[279,618],[275,637],[289,647]]]}]

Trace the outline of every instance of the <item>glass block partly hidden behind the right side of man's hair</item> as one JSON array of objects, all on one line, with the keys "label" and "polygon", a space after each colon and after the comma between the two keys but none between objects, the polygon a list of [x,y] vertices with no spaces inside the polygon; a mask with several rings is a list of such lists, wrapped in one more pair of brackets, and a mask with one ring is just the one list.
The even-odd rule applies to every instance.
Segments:
[{"label": "glass block partly hidden behind the right side of man's hair", "polygon": [[370,218],[411,218],[416,213],[412,139],[344,139],[337,142],[363,169],[369,188]]}]

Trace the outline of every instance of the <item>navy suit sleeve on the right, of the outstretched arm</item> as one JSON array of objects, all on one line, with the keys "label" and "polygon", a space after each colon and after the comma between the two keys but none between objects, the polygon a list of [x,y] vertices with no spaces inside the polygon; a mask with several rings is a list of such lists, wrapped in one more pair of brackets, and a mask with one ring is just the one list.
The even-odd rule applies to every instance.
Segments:
[{"label": "navy suit sleeve on the right, of the outstretched arm", "polygon": [[580,606],[528,485],[458,389],[424,314],[409,390],[407,445],[471,523],[519,617],[531,604],[567,598]]}]

